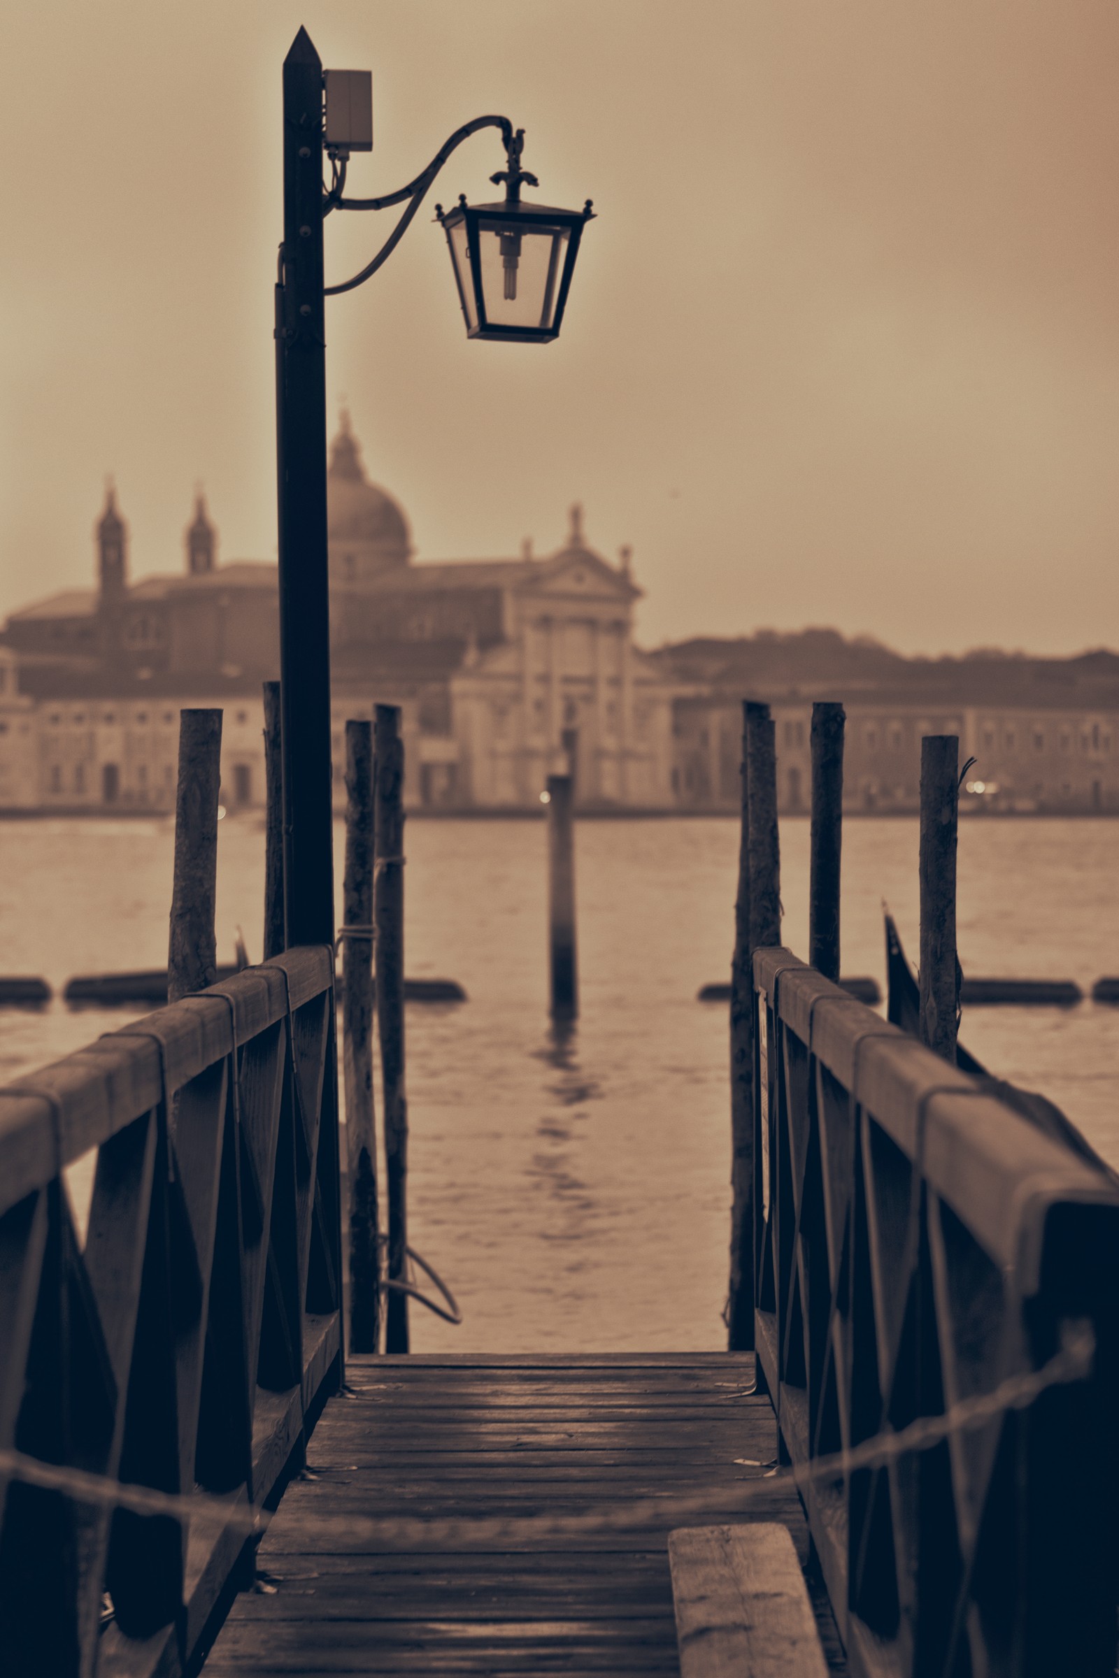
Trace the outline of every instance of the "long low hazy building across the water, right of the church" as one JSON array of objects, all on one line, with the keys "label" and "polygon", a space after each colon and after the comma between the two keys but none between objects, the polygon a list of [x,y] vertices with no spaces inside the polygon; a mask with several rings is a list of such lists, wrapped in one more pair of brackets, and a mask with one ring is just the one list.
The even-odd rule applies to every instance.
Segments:
[{"label": "long low hazy building across the water, right of the church", "polygon": [[[975,654],[901,659],[884,648],[827,646],[827,633],[666,649],[691,695],[674,705],[674,787],[681,807],[736,809],[742,698],[767,700],[777,737],[777,794],[807,814],[812,789],[812,696],[841,700],[844,809],[919,809],[921,738],[955,733],[963,812],[1119,814],[1119,656],[1072,659]],[[841,638],[832,638],[841,641]],[[849,654],[854,651],[854,658]],[[783,656],[778,656],[783,653]],[[827,654],[832,654],[830,658]],[[721,666],[711,668],[715,658]],[[706,663],[706,670],[701,668]]]}]

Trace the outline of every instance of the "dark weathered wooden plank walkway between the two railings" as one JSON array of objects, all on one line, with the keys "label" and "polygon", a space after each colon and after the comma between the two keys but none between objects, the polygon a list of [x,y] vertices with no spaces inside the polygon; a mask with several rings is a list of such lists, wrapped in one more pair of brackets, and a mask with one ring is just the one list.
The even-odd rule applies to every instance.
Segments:
[{"label": "dark weathered wooden plank walkway between the two railings", "polygon": [[[668,1532],[703,1515],[433,1549],[347,1520],[594,1514],[765,1480],[777,1428],[752,1354],[354,1358],[347,1379],[260,1547],[263,1591],[237,1597],[205,1678],[679,1673]],[[750,1514],[787,1522],[804,1564],[787,1482]],[[814,1606],[846,1673],[822,1586]]]}]

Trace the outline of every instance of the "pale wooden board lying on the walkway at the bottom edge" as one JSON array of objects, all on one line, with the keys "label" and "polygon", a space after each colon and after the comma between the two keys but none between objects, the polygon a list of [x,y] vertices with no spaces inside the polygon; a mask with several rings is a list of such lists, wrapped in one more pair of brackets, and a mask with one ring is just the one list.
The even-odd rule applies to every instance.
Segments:
[{"label": "pale wooden board lying on the walkway at the bottom edge", "polygon": [[789,1527],[681,1527],[668,1561],[681,1678],[827,1678]]}]

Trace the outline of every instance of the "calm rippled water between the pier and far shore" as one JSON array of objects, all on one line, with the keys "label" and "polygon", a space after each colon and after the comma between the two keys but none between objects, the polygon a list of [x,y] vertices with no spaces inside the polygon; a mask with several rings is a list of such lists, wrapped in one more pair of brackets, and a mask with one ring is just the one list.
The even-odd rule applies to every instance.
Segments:
[{"label": "calm rippled water between the pier and far shore", "polygon": [[[218,953],[232,960],[240,925],[258,958],[263,832],[248,817],[220,832]],[[465,1314],[453,1329],[416,1309],[414,1347],[718,1347],[726,1015],[695,995],[728,970],[735,822],[579,824],[582,1019],[567,1042],[547,1022],[544,841],[542,822],[408,829],[408,972],[456,978],[470,997],[408,1012],[411,1240]],[[783,824],[785,941],[799,951],[807,841],[805,821]],[[1117,973],[1117,849],[1112,822],[965,822],[965,970],[1085,987]],[[916,822],[847,824],[847,973],[884,977],[882,899],[916,951]],[[169,822],[5,822],[0,854],[3,972],[60,988],[74,973],[166,960]],[[60,1003],[3,1012],[0,1077],[126,1019]],[[1119,1165],[1119,1010],[975,1010],[963,1037]]]}]

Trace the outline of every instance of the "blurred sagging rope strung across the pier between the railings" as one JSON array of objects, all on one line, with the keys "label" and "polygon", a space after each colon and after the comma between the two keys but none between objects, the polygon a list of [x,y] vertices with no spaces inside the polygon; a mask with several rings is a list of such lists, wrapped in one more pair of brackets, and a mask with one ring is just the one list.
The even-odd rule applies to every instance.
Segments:
[{"label": "blurred sagging rope strung across the pier between the railings", "polygon": [[[770,1468],[755,1480],[742,1480],[726,1488],[715,1487],[683,1497],[631,1498],[586,1515],[419,1520],[409,1515],[312,1515],[300,1510],[299,1529],[304,1535],[344,1534],[351,1540],[446,1549],[460,1544],[478,1544],[481,1539],[515,1544],[527,1537],[577,1537],[589,1532],[624,1532],[651,1522],[658,1525],[679,1524],[690,1517],[715,1512],[736,1515],[752,1502],[772,1502],[775,1485],[794,1485],[797,1490],[804,1490],[820,1482],[846,1478],[859,1468],[882,1468],[911,1451],[931,1450],[953,1433],[981,1428],[1010,1410],[1027,1410],[1050,1386],[1087,1379],[1096,1354],[1096,1336],[1090,1322],[1062,1322],[1060,1339],[1060,1351],[1040,1369],[1008,1376],[990,1393],[963,1398],[951,1404],[943,1416],[918,1416],[901,1433],[879,1433],[849,1451],[834,1451],[792,1468]],[[243,1500],[230,1503],[228,1498],[211,1497],[206,1492],[193,1495],[156,1492],[153,1487],[121,1483],[84,1468],[45,1463],[17,1450],[0,1448],[0,1473],[47,1492],[65,1492],[81,1503],[99,1509],[128,1509],[138,1515],[169,1515],[188,1522],[206,1515],[220,1522],[223,1529],[247,1534],[263,1532],[272,1520],[272,1512]]]}]

